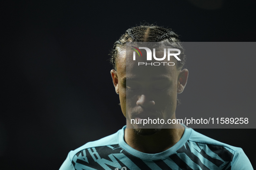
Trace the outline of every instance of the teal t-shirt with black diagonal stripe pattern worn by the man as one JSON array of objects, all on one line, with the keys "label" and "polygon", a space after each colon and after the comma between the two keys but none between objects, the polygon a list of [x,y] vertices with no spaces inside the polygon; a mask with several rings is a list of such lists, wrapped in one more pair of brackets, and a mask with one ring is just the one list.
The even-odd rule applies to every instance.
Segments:
[{"label": "teal t-shirt with black diagonal stripe pattern worn by the man", "polygon": [[253,170],[243,152],[185,127],[171,148],[146,154],[124,141],[124,129],[70,151],[60,170]]}]

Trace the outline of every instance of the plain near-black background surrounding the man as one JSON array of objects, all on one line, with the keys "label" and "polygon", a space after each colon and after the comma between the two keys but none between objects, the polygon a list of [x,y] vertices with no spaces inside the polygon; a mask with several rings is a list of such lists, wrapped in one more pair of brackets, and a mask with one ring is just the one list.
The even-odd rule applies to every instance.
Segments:
[{"label": "plain near-black background surrounding the man", "polygon": [[[181,41],[255,41],[255,5],[254,0],[1,1],[1,169],[58,169],[70,150],[125,125],[108,54],[127,28],[145,20],[172,28]],[[234,60],[255,63],[246,56]],[[182,95],[193,95],[193,100],[181,95],[177,115],[207,102],[224,107],[217,102],[222,96],[211,97],[214,91],[197,86],[202,79],[193,79],[193,69],[204,70],[189,63],[192,72]],[[228,72],[241,70],[237,84],[230,86],[234,90],[252,89],[249,97],[236,96],[245,101],[239,106],[241,115],[243,107],[255,113],[255,70],[247,64],[238,63],[230,67],[235,72]],[[212,100],[198,101],[202,95]],[[256,129],[196,130],[243,148],[256,168]]]}]

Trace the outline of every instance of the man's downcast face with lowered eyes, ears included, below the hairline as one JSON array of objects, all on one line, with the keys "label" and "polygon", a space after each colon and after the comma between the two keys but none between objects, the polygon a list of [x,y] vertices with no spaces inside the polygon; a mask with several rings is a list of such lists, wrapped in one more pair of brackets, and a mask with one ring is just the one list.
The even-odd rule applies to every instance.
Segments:
[{"label": "man's downcast face with lowered eyes, ears included, below the hairline", "polygon": [[[162,54],[160,54],[162,55]],[[111,70],[120,105],[127,119],[127,128],[136,129],[138,133],[151,134],[162,129],[165,124],[143,126],[133,123],[144,119],[175,119],[177,93],[181,93],[186,85],[188,70],[178,70],[176,66],[138,66],[145,62],[142,58],[126,60],[126,50],[119,50],[117,71]],[[159,62],[154,61],[152,62]],[[171,61],[163,62],[174,62]],[[151,61],[150,61],[151,63]],[[130,127],[128,127],[131,125]],[[150,128],[150,129],[145,129]],[[167,127],[165,127],[167,128]]]}]

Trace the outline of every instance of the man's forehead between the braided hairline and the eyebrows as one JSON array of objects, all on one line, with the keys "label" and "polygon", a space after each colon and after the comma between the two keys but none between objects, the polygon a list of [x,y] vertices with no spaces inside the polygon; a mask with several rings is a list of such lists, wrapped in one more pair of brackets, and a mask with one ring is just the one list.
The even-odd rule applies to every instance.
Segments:
[{"label": "man's forehead between the braided hairline and the eyebrows", "polygon": [[[117,73],[121,79],[134,79],[134,80],[155,80],[155,79],[177,79],[178,70],[175,59],[157,61],[152,59],[146,60],[146,54],[144,57],[137,57],[133,60],[131,50],[125,48],[119,48],[117,53]],[[163,51],[156,51],[156,55],[163,56]],[[139,64],[145,63],[145,64]],[[169,65],[168,65],[169,63]],[[155,64],[155,66],[154,66]],[[159,65],[160,64],[160,65]],[[159,65],[159,66],[158,66]]]}]

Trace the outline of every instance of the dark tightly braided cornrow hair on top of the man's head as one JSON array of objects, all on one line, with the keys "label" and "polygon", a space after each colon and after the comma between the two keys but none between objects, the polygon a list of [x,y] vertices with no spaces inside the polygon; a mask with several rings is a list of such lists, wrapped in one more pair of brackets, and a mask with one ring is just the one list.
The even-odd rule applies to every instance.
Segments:
[{"label": "dark tightly braided cornrow hair on top of the man's head", "polygon": [[[110,63],[113,68],[117,70],[117,47],[125,47],[126,42],[177,42],[178,45],[180,40],[178,35],[175,34],[171,29],[162,28],[157,25],[140,25],[130,29],[114,43],[114,47],[110,52]],[[183,48],[179,58],[181,61],[177,61],[177,69],[181,69],[185,64],[185,55]]]}]

